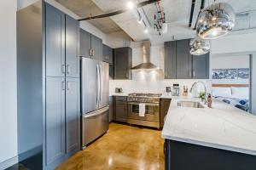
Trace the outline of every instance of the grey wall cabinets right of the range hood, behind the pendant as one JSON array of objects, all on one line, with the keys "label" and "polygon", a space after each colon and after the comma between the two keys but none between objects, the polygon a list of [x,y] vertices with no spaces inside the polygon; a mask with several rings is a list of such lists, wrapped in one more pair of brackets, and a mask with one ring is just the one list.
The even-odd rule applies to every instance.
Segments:
[{"label": "grey wall cabinets right of the range hood, behind the pendant", "polygon": [[208,79],[209,54],[189,54],[189,39],[165,42],[166,79]]}]

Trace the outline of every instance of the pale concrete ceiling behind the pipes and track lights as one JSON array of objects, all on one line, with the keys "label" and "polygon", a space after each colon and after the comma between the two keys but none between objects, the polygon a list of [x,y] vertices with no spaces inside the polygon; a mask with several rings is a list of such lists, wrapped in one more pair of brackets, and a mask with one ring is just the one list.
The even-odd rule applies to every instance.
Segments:
[{"label": "pale concrete ceiling behind the pipes and track lights", "polygon": [[[108,13],[120,8],[125,8],[128,0],[56,0],[62,5],[70,8],[74,13],[79,16],[88,16],[88,14],[96,15]],[[140,3],[145,0],[131,0],[135,3]],[[150,39],[153,44],[163,43],[165,41],[183,39],[189,37],[195,37],[195,31],[193,28],[189,28],[189,14],[192,0],[161,0],[160,6],[166,13],[166,23],[168,31],[165,34],[159,36],[157,31],[152,28],[154,23],[154,3],[149,4],[138,10],[143,13],[143,18],[148,19],[147,26],[149,28],[148,33],[144,33],[144,26],[137,22],[138,14],[137,10],[133,9],[127,11],[124,14],[119,14],[108,19],[91,20],[90,22],[101,29],[102,31],[109,33],[113,31],[123,30],[134,41],[144,41]],[[195,26],[196,17],[200,11],[201,0],[195,0],[195,12],[192,22],[192,26]],[[206,6],[212,4],[213,0],[206,0]],[[256,0],[217,0],[218,2],[230,3],[236,13],[245,11],[256,11]],[[250,15],[250,20],[247,21],[252,25],[253,20],[256,19],[253,14]],[[244,26],[244,20],[242,20],[237,26]],[[151,27],[150,27],[151,26]],[[239,29],[238,29],[239,30]]]}]

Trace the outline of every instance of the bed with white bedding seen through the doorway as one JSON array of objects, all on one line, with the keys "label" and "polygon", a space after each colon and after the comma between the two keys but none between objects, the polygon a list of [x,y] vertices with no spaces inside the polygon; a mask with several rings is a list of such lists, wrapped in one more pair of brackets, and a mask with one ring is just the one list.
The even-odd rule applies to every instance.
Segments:
[{"label": "bed with white bedding seen through the doorway", "polygon": [[249,110],[248,84],[212,84],[212,97],[242,111]]}]

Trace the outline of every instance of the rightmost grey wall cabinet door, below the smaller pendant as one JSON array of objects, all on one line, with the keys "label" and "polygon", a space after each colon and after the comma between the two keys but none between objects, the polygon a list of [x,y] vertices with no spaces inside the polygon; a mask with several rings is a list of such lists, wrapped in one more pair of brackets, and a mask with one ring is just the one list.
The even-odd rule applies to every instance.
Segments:
[{"label": "rightmost grey wall cabinet door, below the smaller pendant", "polygon": [[209,78],[209,54],[195,56],[193,55],[193,78]]}]

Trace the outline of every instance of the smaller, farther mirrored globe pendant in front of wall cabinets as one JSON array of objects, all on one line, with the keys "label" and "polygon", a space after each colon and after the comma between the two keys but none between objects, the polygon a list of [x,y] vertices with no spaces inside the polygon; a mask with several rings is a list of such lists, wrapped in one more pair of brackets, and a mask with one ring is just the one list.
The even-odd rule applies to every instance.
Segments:
[{"label": "smaller, farther mirrored globe pendant in front of wall cabinets", "polygon": [[189,42],[189,53],[192,55],[207,54],[210,51],[210,41],[195,37]]}]

